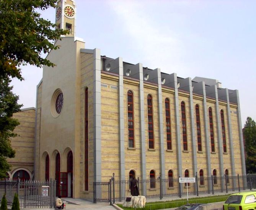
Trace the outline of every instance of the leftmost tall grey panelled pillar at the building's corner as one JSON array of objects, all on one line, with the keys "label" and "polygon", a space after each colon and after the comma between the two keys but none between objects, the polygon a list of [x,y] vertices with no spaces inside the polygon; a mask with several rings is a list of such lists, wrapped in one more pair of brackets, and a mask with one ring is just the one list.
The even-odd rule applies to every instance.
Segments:
[{"label": "leftmost tall grey panelled pillar at the building's corner", "polygon": [[94,180],[101,179],[101,56],[93,50],[93,168]]}]

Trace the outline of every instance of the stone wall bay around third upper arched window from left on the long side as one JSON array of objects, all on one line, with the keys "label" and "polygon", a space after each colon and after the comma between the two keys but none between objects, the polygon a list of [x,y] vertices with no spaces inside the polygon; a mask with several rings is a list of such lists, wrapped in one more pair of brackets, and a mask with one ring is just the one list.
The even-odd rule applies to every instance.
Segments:
[{"label": "stone wall bay around third upper arched window from left on the long side", "polygon": [[[166,120],[165,120],[165,99],[170,100],[170,118],[171,118],[171,150],[167,150],[166,142]],[[163,100],[163,126],[164,126],[164,142],[165,142],[165,177],[168,178],[168,171],[173,170],[173,177],[178,177],[177,168],[177,138],[175,127],[175,109],[174,109],[174,90],[162,88]]]}]

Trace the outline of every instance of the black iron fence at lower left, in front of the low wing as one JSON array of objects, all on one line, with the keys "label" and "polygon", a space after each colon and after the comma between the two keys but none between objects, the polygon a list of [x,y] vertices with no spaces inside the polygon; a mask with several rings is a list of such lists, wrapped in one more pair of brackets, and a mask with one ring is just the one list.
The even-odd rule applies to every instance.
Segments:
[{"label": "black iron fence at lower left, in front of the low wing", "polygon": [[6,195],[7,205],[13,203],[18,194],[20,208],[54,208],[56,181],[20,181],[5,179],[0,181],[0,197]]}]

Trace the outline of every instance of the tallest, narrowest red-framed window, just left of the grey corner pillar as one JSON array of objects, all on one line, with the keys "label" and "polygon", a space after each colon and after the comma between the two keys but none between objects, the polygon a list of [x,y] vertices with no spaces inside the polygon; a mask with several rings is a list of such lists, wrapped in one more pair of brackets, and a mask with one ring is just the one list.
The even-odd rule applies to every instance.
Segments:
[{"label": "tallest, narrowest red-framed window, just left of the grey corner pillar", "polygon": [[88,173],[88,88],[85,89],[85,191],[88,191],[89,173]]}]

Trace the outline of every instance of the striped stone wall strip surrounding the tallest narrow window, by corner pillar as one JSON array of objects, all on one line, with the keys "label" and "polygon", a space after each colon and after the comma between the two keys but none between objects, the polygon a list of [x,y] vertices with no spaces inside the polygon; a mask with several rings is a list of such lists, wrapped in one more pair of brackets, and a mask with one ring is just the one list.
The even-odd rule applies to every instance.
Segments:
[{"label": "striped stone wall strip surrounding the tallest narrow window, by corner pillar", "polygon": [[[93,54],[81,53],[80,198],[93,198]],[[85,191],[85,89],[88,88],[88,191]]]}]

